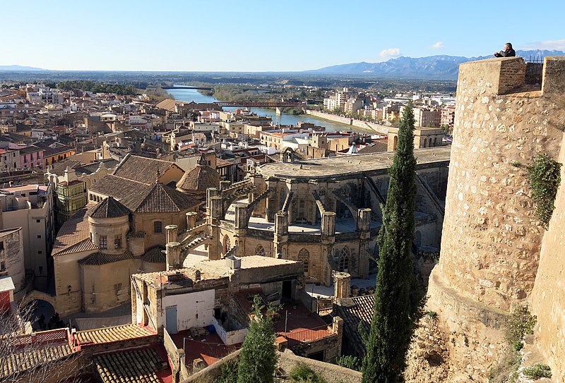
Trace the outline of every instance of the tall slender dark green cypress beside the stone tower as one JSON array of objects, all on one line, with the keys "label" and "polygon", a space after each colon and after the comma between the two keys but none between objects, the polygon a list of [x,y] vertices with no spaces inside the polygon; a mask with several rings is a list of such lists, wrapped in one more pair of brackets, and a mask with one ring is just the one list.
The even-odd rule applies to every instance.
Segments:
[{"label": "tall slender dark green cypress beside the stone tower", "polygon": [[398,147],[388,170],[390,181],[383,226],[379,232],[379,274],[376,277],[371,330],[364,336],[363,383],[403,382],[405,355],[422,312],[422,294],[414,274],[412,240],[416,205],[412,103],[398,124]]}]

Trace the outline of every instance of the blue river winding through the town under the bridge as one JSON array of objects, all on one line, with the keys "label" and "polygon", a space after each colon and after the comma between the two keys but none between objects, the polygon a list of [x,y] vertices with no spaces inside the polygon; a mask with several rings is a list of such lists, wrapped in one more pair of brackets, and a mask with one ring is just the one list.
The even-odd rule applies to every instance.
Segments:
[{"label": "blue river winding through the town under the bridge", "polygon": [[[167,89],[167,93],[172,95],[174,99],[177,101],[184,101],[184,102],[216,102],[218,101],[212,96],[203,95],[201,92],[198,92],[196,89]],[[233,110],[237,108],[224,108],[226,110]],[[339,131],[339,130],[347,130],[347,131],[354,131],[360,133],[374,133],[374,130],[370,129],[362,129],[357,128],[355,126],[345,125],[345,123],[336,123],[333,121],[324,120],[323,118],[317,118],[314,116],[307,116],[306,114],[299,114],[295,116],[294,114],[286,114],[283,113],[280,116],[277,116],[274,109],[263,109],[263,108],[253,108],[251,111],[254,111],[259,116],[268,116],[273,119],[273,123],[279,125],[294,125],[296,126],[297,123],[300,121],[304,121],[307,123],[314,123],[317,126],[325,126],[326,130],[328,131]]]}]

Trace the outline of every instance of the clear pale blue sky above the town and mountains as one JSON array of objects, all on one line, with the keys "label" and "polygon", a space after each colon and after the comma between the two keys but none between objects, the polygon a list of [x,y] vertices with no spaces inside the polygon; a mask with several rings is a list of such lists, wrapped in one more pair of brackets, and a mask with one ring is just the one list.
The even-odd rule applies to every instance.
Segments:
[{"label": "clear pale blue sky above the town and mountains", "polygon": [[305,71],[398,56],[565,51],[565,1],[2,1],[0,66]]}]

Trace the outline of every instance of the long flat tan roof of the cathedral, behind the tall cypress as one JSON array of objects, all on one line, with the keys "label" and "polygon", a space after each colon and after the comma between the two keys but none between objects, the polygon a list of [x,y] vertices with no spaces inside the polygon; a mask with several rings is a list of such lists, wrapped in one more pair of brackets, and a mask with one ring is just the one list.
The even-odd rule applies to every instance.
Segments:
[{"label": "long flat tan roof of the cathedral, behind the tall cypress", "polygon": [[[424,164],[448,162],[451,146],[415,149],[417,168]],[[366,171],[385,171],[393,164],[394,152],[356,154],[352,156],[305,159],[295,162],[275,162],[259,167],[263,176],[277,178],[335,178]]]}]

